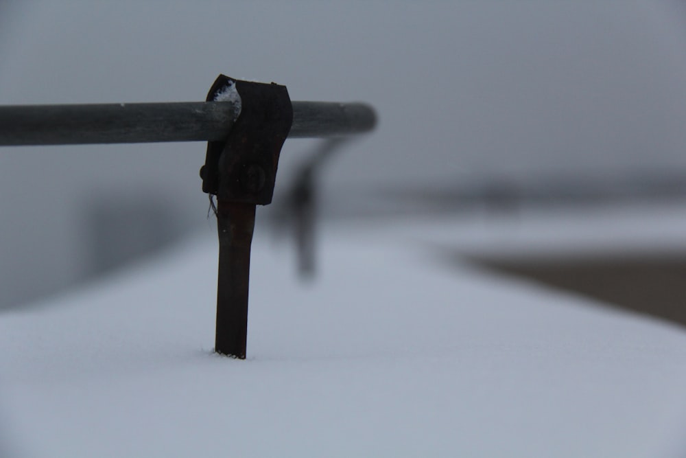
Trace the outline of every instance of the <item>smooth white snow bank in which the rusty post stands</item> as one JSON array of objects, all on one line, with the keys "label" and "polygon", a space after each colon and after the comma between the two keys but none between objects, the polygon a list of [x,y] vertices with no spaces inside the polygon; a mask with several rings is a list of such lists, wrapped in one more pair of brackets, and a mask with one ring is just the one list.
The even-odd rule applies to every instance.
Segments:
[{"label": "smooth white snow bank in which the rusty post stands", "polygon": [[683,456],[684,332],[435,256],[564,239],[528,229],[327,227],[312,284],[258,234],[244,361],[211,352],[198,236],[0,315],[4,437],[29,457]]}]

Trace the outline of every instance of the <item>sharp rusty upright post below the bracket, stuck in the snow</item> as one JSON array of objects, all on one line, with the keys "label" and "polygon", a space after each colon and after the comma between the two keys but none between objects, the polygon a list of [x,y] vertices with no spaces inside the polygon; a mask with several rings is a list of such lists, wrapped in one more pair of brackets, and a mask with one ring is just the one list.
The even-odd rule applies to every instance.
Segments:
[{"label": "sharp rusty upright post below the bracket, stuck in the snow", "polygon": [[219,277],[215,352],[246,358],[250,245],[255,229],[255,204],[217,202]]}]

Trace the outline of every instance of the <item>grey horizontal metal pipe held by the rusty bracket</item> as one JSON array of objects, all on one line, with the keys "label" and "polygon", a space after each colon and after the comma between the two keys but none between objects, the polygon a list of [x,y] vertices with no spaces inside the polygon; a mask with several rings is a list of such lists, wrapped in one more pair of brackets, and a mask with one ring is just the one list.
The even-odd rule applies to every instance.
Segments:
[{"label": "grey horizontal metal pipe held by the rusty bracket", "polygon": [[[292,102],[289,137],[336,137],[372,130],[361,103]],[[0,146],[220,141],[233,102],[0,106]]]}]

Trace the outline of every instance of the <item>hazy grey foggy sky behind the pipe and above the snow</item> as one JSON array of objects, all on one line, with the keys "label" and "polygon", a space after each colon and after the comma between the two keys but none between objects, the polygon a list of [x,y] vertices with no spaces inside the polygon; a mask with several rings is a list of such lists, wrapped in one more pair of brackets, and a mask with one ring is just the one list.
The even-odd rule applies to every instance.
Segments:
[{"label": "hazy grey foggy sky behind the pipe and above the snow", "polygon": [[[678,181],[684,14],[657,0],[0,3],[0,104],[197,101],[219,73],[369,102],[377,130],[321,176],[329,215],[480,183]],[[312,146],[286,142],[277,201]],[[1,148],[0,308],[213,232],[204,152]]]}]

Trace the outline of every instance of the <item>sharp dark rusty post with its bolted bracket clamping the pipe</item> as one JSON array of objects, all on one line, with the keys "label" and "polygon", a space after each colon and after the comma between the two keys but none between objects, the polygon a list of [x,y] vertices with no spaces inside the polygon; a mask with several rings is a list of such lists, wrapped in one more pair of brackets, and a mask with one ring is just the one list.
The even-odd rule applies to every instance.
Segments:
[{"label": "sharp dark rusty post with its bolted bracket clamping the pipe", "polygon": [[240,113],[226,141],[210,141],[200,169],[202,190],[217,196],[219,275],[215,352],[246,357],[250,246],[256,205],[272,202],[276,168],[293,122],[285,86],[233,80],[221,75],[207,100],[226,94]]}]

